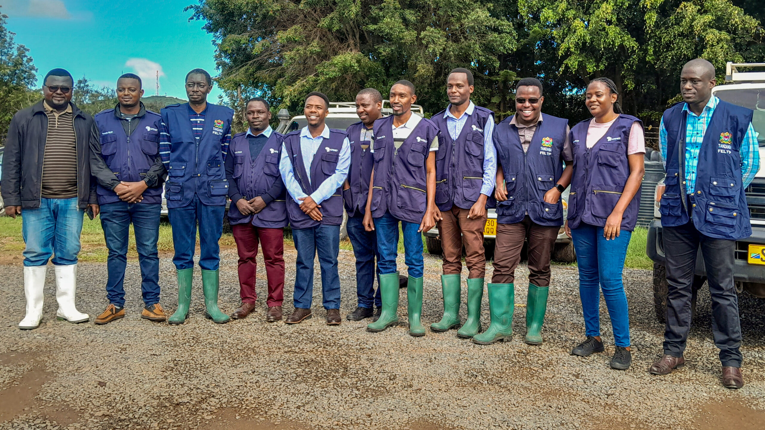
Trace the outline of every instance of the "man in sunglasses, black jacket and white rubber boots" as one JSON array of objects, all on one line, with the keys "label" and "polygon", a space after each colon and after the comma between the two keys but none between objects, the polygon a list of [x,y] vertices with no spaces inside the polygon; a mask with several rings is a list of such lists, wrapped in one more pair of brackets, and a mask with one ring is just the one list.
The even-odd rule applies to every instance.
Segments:
[{"label": "man in sunglasses, black jacket and white rubber boots", "polygon": [[16,112],[5,140],[2,197],[5,213],[21,215],[24,236],[26,316],[18,327],[37,328],[43,311],[46,265],[56,272],[56,317],[88,321],[74,304],[83,213],[96,216],[96,182],[90,181],[90,142],[98,140],[93,117],[71,103],[72,75],[50,70],[44,99]]}]

